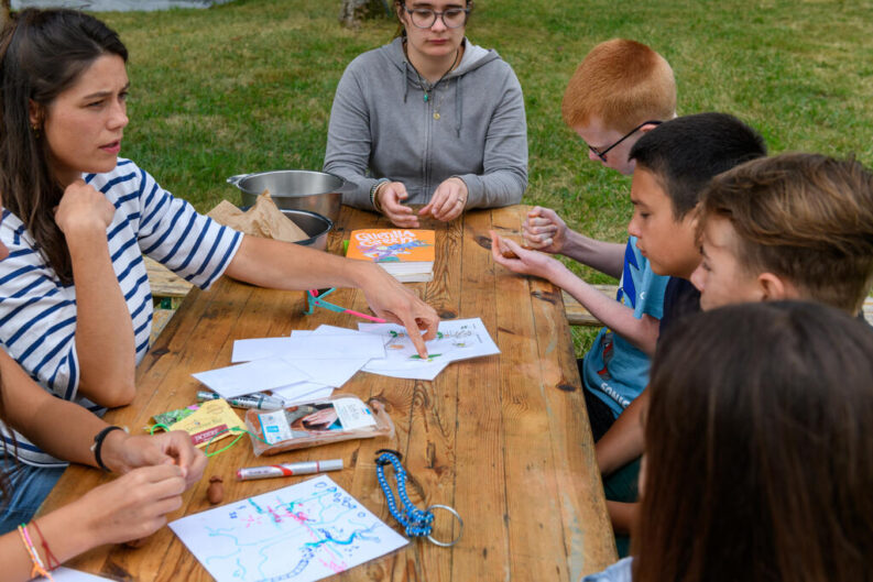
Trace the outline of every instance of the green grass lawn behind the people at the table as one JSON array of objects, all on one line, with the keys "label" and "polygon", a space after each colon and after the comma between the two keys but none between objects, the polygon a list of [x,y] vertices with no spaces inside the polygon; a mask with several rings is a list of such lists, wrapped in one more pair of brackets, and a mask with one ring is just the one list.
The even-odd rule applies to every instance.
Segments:
[{"label": "green grass lawn behind the people at the table", "polygon": [[[342,29],[339,4],[237,0],[209,10],[98,14],[131,52],[122,155],[199,210],[239,200],[225,183],[232,174],[320,169],[345,66],[396,29],[389,19]],[[557,209],[583,233],[620,241],[630,180],[589,162],[560,119],[567,79],[594,44],[623,36],[663,54],[676,73],[680,114],[730,112],[756,127],[773,153],[854,154],[871,165],[871,30],[870,1],[477,0],[468,35],[496,48],[524,88],[524,201]],[[576,339],[583,349],[590,333]]]}]

